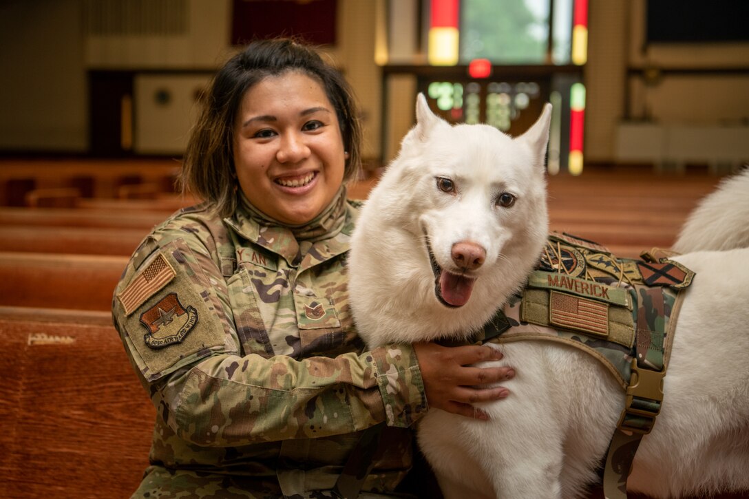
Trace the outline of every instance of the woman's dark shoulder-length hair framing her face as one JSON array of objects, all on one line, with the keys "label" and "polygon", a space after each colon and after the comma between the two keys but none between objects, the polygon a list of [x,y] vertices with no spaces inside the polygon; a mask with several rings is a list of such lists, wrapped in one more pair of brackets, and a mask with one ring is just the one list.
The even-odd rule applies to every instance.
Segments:
[{"label": "woman's dark shoulder-length hair framing her face", "polygon": [[311,46],[289,39],[254,41],[213,77],[187,143],[179,179],[183,191],[204,199],[222,217],[237,208],[234,126],[242,98],[262,79],[287,71],[300,71],[320,82],[336,109],[344,150],[349,154],[344,181],[355,178],[360,170],[362,132],[357,104],[342,74]]}]

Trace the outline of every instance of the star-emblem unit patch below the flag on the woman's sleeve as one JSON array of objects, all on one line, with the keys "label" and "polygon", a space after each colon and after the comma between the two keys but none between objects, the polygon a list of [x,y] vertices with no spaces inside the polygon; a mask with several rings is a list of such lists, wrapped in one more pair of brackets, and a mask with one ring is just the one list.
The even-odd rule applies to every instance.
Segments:
[{"label": "star-emblem unit patch below the flag on the woman's sleeve", "polygon": [[198,311],[193,306],[182,306],[177,293],[169,293],[159,303],[140,316],[148,333],[143,336],[145,344],[151,348],[164,348],[181,342],[195,324],[198,324]]}]

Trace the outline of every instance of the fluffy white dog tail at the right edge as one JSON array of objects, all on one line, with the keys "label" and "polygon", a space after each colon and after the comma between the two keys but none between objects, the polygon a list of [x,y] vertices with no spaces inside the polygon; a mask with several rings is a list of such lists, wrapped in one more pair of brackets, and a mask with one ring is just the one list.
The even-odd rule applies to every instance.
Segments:
[{"label": "fluffy white dog tail at the right edge", "polygon": [[700,201],[673,244],[680,253],[749,247],[749,166]]}]

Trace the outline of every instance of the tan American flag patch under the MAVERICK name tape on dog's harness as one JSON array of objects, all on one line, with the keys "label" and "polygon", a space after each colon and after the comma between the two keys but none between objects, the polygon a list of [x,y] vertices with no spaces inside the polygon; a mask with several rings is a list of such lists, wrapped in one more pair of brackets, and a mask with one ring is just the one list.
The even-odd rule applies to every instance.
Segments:
[{"label": "tan American flag patch under the MAVERICK name tape on dog's harness", "polygon": [[551,291],[551,324],[608,336],[608,303]]}]

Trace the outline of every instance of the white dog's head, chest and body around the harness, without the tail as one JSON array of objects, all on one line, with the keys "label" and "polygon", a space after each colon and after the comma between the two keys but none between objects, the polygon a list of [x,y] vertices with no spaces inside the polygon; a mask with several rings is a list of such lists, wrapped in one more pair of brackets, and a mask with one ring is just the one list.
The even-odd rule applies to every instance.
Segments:
[{"label": "white dog's head, chest and body around the harness, without the tail", "polygon": [[[369,345],[464,339],[524,285],[548,230],[551,106],[512,139],[450,126],[424,97],[363,207],[349,258],[351,306]],[[742,222],[746,222],[745,220]],[[678,258],[686,290],[664,404],[631,490],[655,498],[749,489],[749,249]],[[383,267],[386,261],[386,267]],[[573,498],[595,482],[625,396],[600,362],[557,342],[503,345],[511,395],[472,420],[437,409],[418,441],[447,498]]]}]

